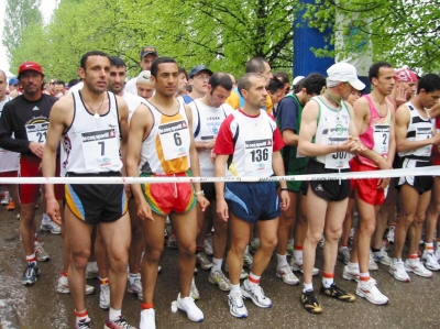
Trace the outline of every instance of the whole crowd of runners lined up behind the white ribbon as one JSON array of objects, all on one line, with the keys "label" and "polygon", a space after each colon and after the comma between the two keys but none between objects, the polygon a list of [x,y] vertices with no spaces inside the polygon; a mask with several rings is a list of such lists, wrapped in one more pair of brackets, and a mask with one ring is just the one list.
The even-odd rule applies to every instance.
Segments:
[{"label": "whole crowd of runners lined up behind the white ribbon", "polygon": [[[40,230],[63,235],[57,290],[72,294],[75,328],[91,328],[86,295],[95,288],[86,278],[94,277],[100,279],[99,306],[109,309],[105,328],[134,328],[122,315],[125,288],[142,300],[139,328],[155,328],[154,290],[165,245],[179,251],[174,306],[191,321],[204,320],[195,303],[196,264],[229,292],[237,318],[248,317],[244,299],[272,306],[260,281],[274,251],[276,273],[266,275],[298,285],[301,273],[298,297],[311,314],[322,312],[312,285],[320,273],[324,296],[353,303],[358,295],[386,305],[388,297],[370,274],[377,263],[400,282],[410,281],[408,272],[431,277],[440,271],[440,175],[417,175],[440,163],[438,75],[419,77],[377,62],[370,67],[367,94],[348,63],[329,67],[327,77],[297,77],[292,86],[286,73],[272,74],[261,57],[246,63],[238,81],[206,65],[188,74],[154,46],[142,47],[139,64],[139,76],[128,79],[122,58],[91,51],[80,58],[80,80],[66,88],[51,79],[46,88],[43,68],[25,62],[9,80],[9,92],[0,70],[0,177],[262,179],[6,186],[1,205],[20,219],[24,285],[35,284],[38,262],[51,259],[37,238],[40,193]],[[414,168],[415,175],[270,179],[393,168]],[[318,245],[322,268],[315,267]],[[337,285],[337,259],[344,263],[342,277],[358,283],[355,294]]]}]

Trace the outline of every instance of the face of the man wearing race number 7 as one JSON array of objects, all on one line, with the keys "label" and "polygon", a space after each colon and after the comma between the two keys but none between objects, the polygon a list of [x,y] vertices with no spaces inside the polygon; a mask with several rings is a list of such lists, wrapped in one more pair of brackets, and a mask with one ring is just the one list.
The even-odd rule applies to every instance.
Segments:
[{"label": "face of the man wearing race number 7", "polygon": [[78,69],[84,84],[95,94],[101,94],[107,90],[109,73],[110,61],[106,56],[89,56],[86,62],[86,69]]}]

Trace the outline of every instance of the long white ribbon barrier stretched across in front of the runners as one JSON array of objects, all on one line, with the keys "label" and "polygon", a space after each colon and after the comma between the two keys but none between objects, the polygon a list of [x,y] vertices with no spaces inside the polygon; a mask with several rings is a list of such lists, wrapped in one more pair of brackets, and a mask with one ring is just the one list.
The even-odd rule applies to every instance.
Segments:
[{"label": "long white ribbon barrier stretched across in front of the runners", "polygon": [[0,184],[154,184],[215,182],[339,180],[402,176],[440,176],[440,166],[373,172],[272,176],[272,177],[0,177]]}]

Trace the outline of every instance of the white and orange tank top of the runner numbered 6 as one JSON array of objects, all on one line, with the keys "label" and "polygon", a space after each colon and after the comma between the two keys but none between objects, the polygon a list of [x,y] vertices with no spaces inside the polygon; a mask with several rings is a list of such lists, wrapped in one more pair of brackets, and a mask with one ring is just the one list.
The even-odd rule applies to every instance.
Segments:
[{"label": "white and orange tank top of the runner numbered 6", "polygon": [[185,103],[177,99],[179,109],[174,116],[163,114],[146,101],[154,118],[152,130],[141,146],[141,172],[144,174],[172,175],[189,169],[191,131]]}]

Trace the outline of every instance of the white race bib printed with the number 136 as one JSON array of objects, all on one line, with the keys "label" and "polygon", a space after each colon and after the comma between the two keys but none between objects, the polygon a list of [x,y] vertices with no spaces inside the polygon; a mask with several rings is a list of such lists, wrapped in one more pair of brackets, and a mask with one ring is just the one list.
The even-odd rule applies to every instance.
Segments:
[{"label": "white race bib printed with the number 136", "polygon": [[272,168],[272,147],[273,142],[271,139],[244,141],[246,176]]}]

